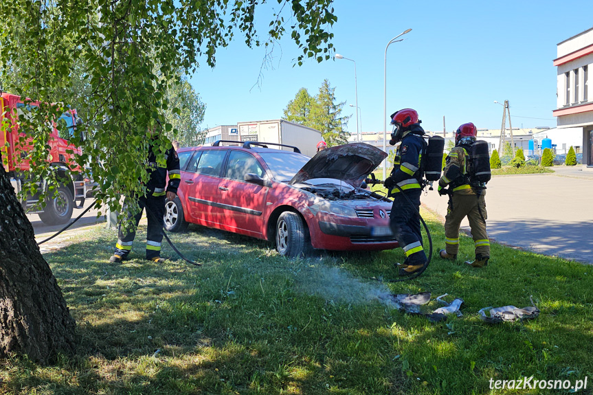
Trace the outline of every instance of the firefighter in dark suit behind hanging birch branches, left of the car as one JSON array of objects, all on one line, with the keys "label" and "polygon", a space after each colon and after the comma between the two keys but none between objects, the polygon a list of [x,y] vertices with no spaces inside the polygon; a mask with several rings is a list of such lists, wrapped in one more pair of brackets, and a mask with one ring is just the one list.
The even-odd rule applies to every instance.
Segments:
[{"label": "firefighter in dark suit behind hanging birch branches, left of the car", "polygon": [[[150,179],[146,183],[146,195],[137,199],[140,210],[134,216],[135,226],[133,230],[122,229],[120,223],[118,232],[118,243],[115,245],[115,253],[109,258],[110,262],[122,262],[126,260],[128,253],[132,249],[132,242],[136,236],[135,229],[138,226],[142,211],[146,207],[146,218],[148,219],[148,229],[146,231],[146,259],[156,263],[164,263],[161,258],[161,241],[163,240],[163,216],[165,212],[165,199],[172,201],[177,196],[177,188],[181,181],[179,173],[179,157],[175,148],[168,148],[165,153],[165,163],[157,162],[157,156],[153,152],[152,144],[148,148],[148,172]],[[169,182],[166,183],[167,172]],[[165,190],[166,187],[166,190]],[[127,198],[126,198],[127,199]],[[125,207],[128,206],[124,202]],[[128,212],[128,216],[132,213]],[[129,218],[129,217],[128,217]]]}]

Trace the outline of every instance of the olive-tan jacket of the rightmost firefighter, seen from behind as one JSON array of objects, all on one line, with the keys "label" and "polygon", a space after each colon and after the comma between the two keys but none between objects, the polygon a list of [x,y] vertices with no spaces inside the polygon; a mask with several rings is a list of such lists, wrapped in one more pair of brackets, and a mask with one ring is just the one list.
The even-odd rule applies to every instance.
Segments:
[{"label": "olive-tan jacket of the rightmost firefighter, seen from behind", "polygon": [[445,169],[443,176],[438,180],[441,188],[449,185],[449,190],[458,194],[475,194],[475,190],[470,185],[469,176],[469,146],[456,146],[451,149],[447,159],[445,159]]}]

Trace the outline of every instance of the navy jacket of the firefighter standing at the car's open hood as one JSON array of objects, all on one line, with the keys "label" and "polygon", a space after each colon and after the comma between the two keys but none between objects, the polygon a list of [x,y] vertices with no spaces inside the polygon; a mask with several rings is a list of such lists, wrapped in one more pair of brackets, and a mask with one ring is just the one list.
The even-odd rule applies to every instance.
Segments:
[{"label": "navy jacket of the firefighter standing at the car's open hood", "polygon": [[[390,178],[403,191],[422,189],[422,154],[426,152],[427,146],[422,135],[424,129],[419,124],[412,125],[396,149]],[[394,186],[390,196],[396,193],[399,193],[399,189]]]}]

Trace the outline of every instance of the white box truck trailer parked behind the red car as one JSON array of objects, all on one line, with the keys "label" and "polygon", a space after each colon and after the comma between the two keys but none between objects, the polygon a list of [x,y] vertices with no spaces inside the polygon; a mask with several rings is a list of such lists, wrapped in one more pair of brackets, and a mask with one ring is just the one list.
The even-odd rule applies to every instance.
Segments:
[{"label": "white box truck trailer parked behind the red car", "polygon": [[[239,139],[242,142],[267,142],[296,146],[303,155],[313,157],[317,143],[323,137],[320,131],[287,120],[238,122]],[[275,148],[270,146],[270,148]],[[283,147],[289,150],[290,148]]]}]

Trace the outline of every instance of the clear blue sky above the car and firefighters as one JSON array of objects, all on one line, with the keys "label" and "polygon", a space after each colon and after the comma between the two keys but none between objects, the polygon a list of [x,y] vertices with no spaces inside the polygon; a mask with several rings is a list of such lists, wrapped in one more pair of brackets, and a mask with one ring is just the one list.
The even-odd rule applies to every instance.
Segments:
[{"label": "clear blue sky above the car and firefighters", "polygon": [[[258,10],[264,38],[271,6]],[[273,4],[272,4],[273,3]],[[500,128],[502,106],[511,102],[513,127],[555,126],[557,43],[593,27],[593,1],[335,1],[335,52],[356,61],[362,131],[383,130],[385,45],[411,28],[387,55],[387,114],[410,107],[427,130],[447,131],[465,122]],[[355,72],[348,60],[294,66],[300,54],[290,32],[262,70],[265,50],[240,38],[190,78],[207,104],[203,128],[282,117],[298,89],[315,95],[327,78],[356,131]],[[541,119],[533,119],[541,118]],[[389,126],[388,126],[389,128]]]}]

